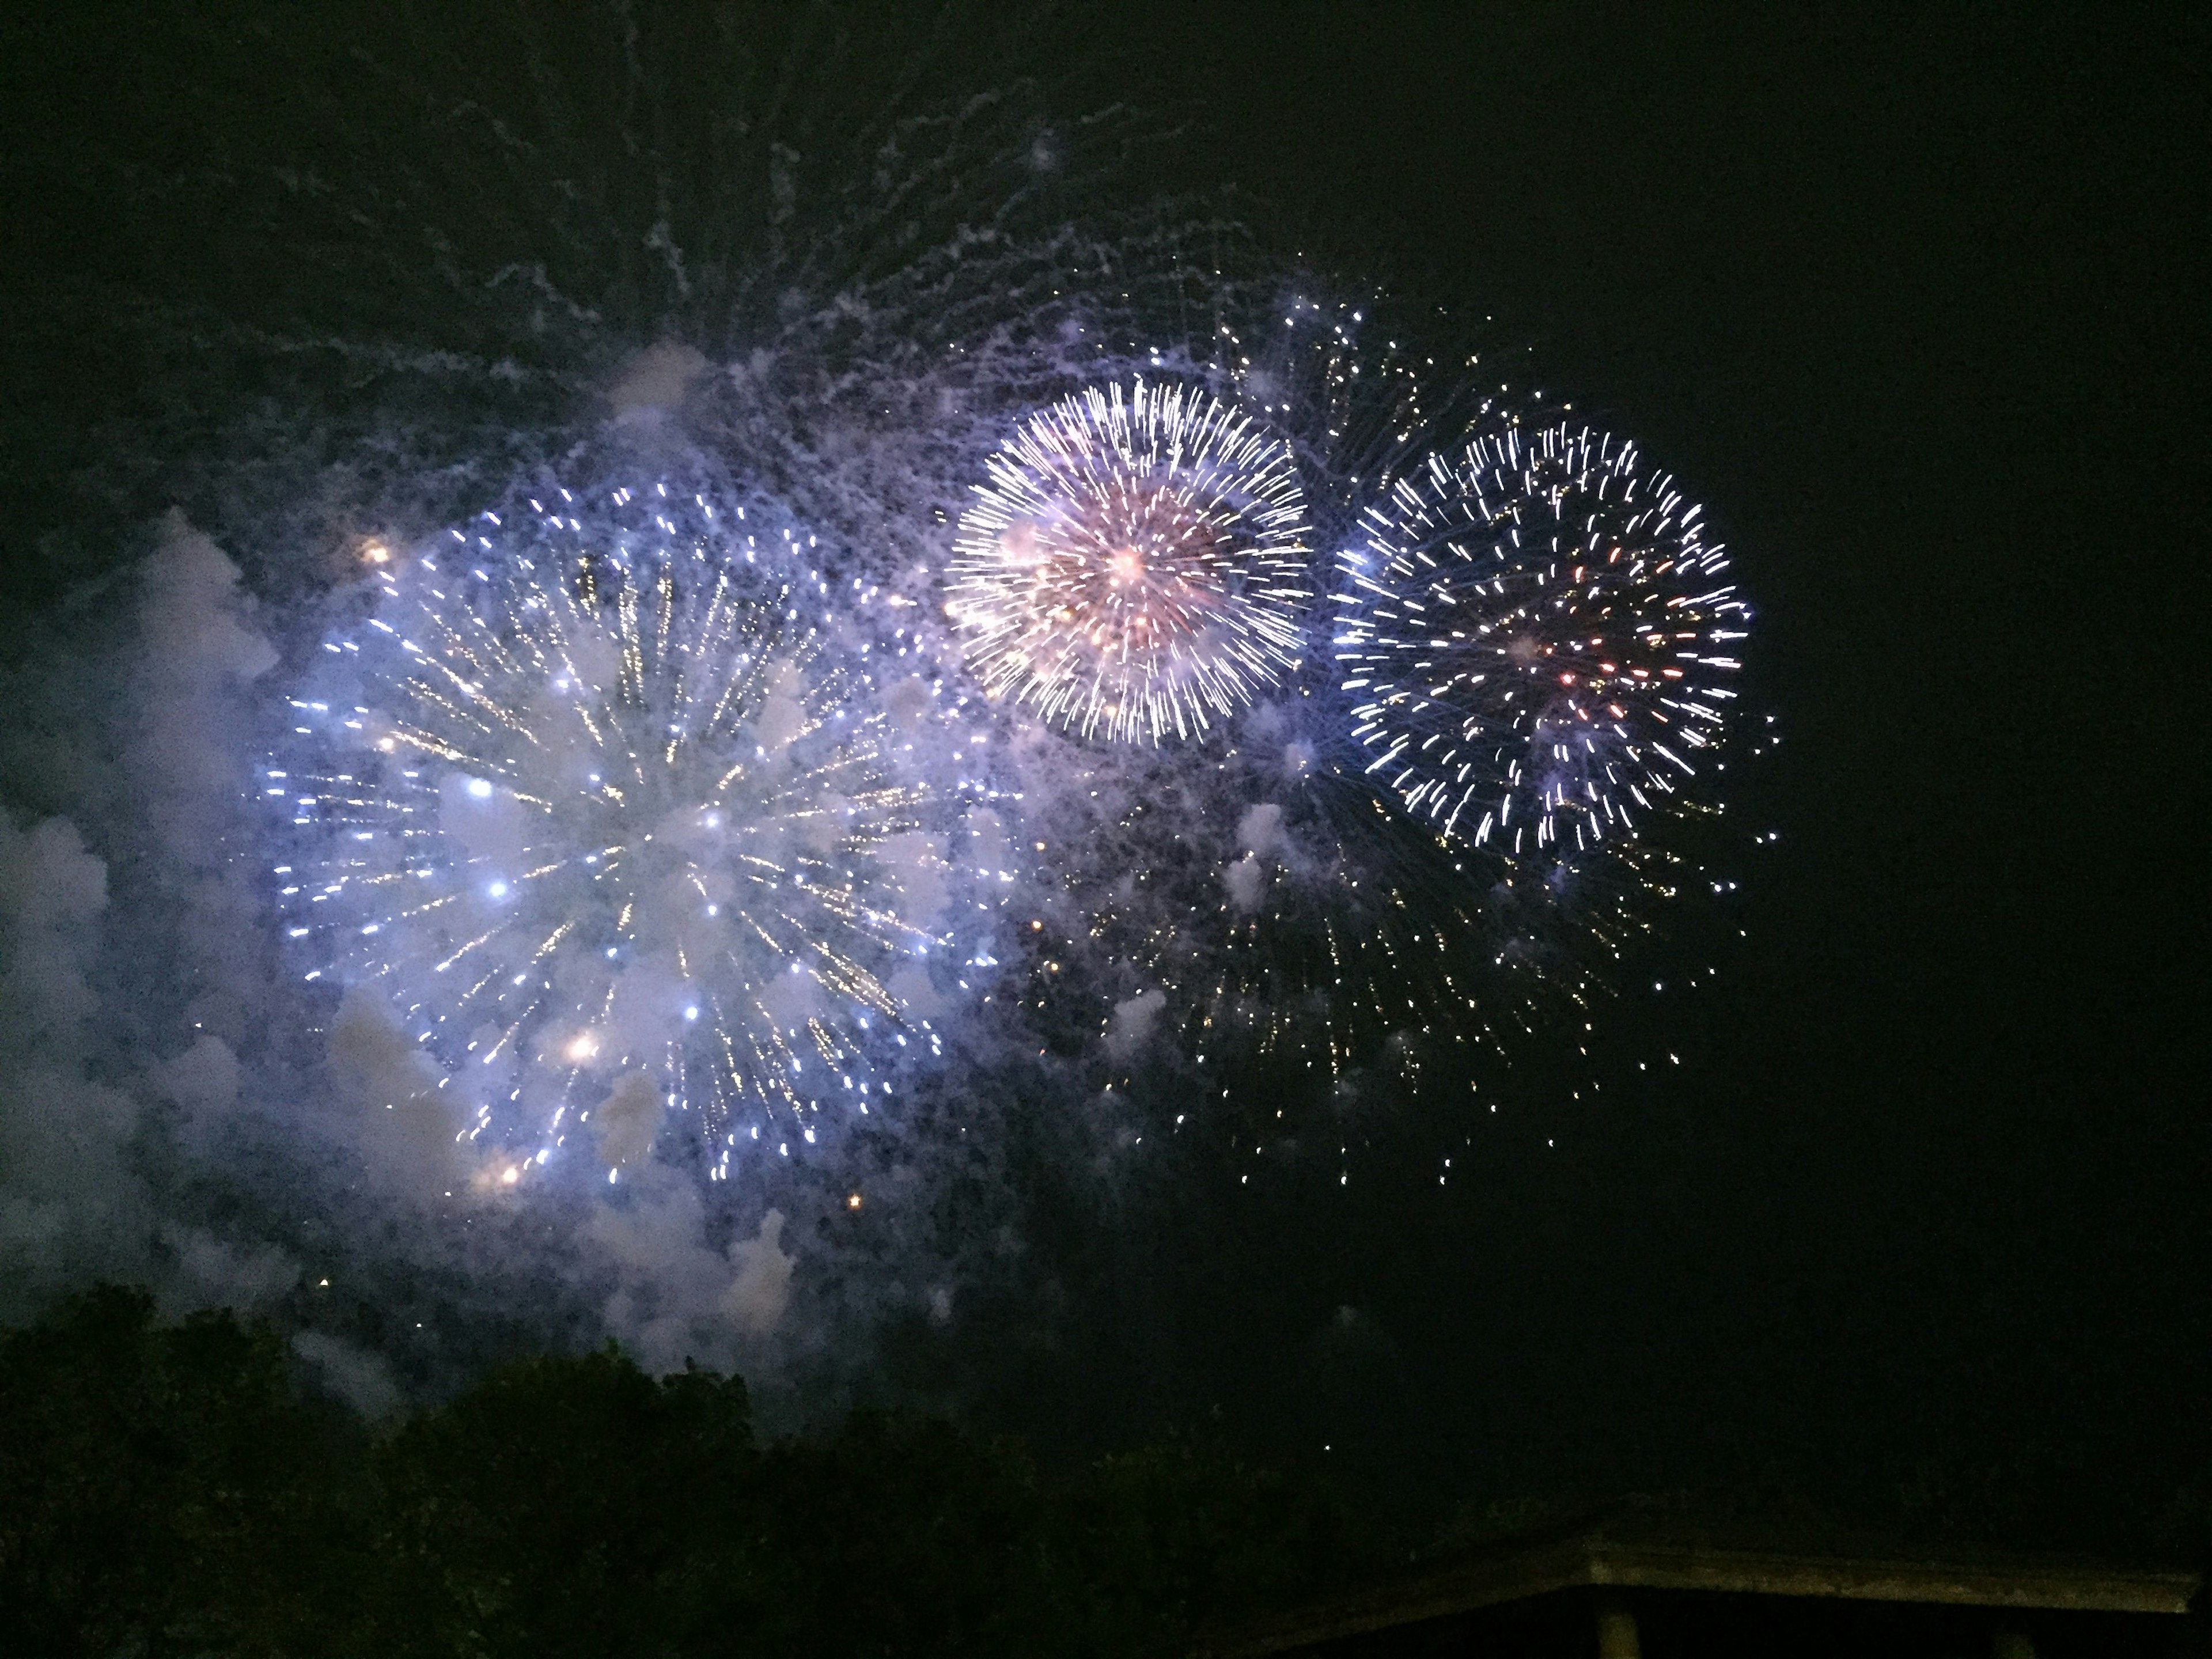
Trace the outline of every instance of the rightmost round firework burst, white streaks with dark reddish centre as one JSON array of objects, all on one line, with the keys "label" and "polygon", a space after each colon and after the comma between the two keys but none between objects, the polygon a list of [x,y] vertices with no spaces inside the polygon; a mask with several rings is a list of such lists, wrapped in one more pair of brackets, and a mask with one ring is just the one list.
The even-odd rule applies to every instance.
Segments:
[{"label": "rightmost round firework burst, white streaks with dark reddish centre", "polygon": [[1447,838],[1630,834],[1723,728],[1750,611],[1699,509],[1586,427],[1409,471],[1343,555],[1343,690],[1369,776]]}]

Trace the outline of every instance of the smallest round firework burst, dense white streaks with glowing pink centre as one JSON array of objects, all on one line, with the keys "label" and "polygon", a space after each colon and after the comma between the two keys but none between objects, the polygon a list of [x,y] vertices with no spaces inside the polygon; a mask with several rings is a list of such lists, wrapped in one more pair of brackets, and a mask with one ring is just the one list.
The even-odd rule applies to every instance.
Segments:
[{"label": "smallest round firework burst, dense white streaks with glowing pink centre", "polygon": [[991,695],[1084,737],[1192,737],[1305,653],[1290,447],[1137,380],[1031,416],[953,542],[947,611]]}]

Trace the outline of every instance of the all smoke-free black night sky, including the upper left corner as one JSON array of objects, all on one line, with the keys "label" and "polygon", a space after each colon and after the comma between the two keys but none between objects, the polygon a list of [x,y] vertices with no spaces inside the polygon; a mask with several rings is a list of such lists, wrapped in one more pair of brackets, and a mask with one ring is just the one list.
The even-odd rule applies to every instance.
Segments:
[{"label": "all smoke-free black night sky, including the upper left corner", "polygon": [[[2203,18],[1018,22],[975,73],[1141,106],[1177,128],[1146,188],[1237,186],[1272,246],[1449,307],[1708,502],[1785,737],[1730,810],[1778,843],[1728,925],[1641,962],[1710,960],[1712,987],[1608,1009],[1608,1086],[1484,1126],[1444,1188],[1425,1117],[1360,1181],[1270,1194],[1060,1203],[1042,1137],[1033,1270],[889,1332],[880,1387],[1042,1444],[1203,1427],[1425,1515],[1761,1480],[1880,1502],[2000,1467],[2148,1511],[2212,1480]],[[64,597],[142,555],[177,489],[144,453],[159,420],[102,418],[161,405],[155,358],[115,345],[135,296],[237,319],[283,285],[250,230],[210,230],[195,270],[150,197],[86,217],[55,157],[281,148],[343,104],[349,27],[0,33],[11,653],[82,617]],[[27,776],[0,779],[18,823],[69,807]]]}]

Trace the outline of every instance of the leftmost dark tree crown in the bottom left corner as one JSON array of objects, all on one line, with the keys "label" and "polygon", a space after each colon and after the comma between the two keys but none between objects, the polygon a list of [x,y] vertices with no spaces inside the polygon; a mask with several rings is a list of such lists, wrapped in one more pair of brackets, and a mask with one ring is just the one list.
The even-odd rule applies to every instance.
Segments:
[{"label": "leftmost dark tree crown in the bottom left corner", "polygon": [[303,1650],[358,1588],[354,1462],[283,1343],[95,1290],[0,1343],[0,1652]]}]

